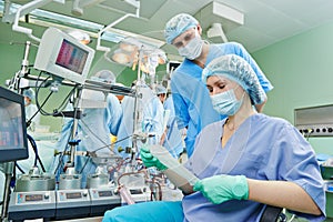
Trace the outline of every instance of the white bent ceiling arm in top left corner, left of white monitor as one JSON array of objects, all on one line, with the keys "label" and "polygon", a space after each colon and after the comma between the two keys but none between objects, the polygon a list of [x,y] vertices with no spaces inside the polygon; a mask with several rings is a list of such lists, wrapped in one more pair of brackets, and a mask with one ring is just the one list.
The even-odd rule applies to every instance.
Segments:
[{"label": "white bent ceiling arm in top left corner, left of white monitor", "polygon": [[18,9],[18,11],[16,12],[14,22],[12,24],[12,30],[26,33],[26,34],[28,34],[29,38],[33,39],[34,41],[40,42],[39,38],[32,36],[32,29],[20,27],[19,21],[20,21],[21,17],[30,13],[34,9],[38,9],[40,7],[43,7],[48,3],[50,3],[51,1],[53,1],[53,0],[34,0],[34,1],[31,1],[31,2],[26,3],[24,6],[20,7]]}]

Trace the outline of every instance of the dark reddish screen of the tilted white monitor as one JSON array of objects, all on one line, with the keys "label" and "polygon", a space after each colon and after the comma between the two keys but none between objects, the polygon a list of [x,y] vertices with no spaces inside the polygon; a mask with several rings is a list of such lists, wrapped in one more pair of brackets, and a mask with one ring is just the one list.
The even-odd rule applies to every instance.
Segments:
[{"label": "dark reddish screen of the tilted white monitor", "polygon": [[64,39],[59,50],[56,64],[82,74],[87,58],[87,51]]}]

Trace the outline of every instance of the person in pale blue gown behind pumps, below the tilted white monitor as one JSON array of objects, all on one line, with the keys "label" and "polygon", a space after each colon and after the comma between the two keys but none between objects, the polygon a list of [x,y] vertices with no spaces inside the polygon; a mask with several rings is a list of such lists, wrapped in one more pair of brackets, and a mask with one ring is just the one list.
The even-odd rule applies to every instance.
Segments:
[{"label": "person in pale blue gown behind pumps, below the tilted white monitor", "polygon": [[[92,80],[114,83],[115,77],[109,70],[101,70],[97,72]],[[115,135],[119,130],[119,125],[122,118],[122,109],[119,100],[114,94],[109,93],[105,95],[103,92],[87,90],[82,91],[82,104],[83,101],[93,101],[98,104],[104,103],[105,107],[91,107],[83,108],[82,117],[78,122],[78,130],[75,132],[75,140],[79,141],[77,151],[89,151],[97,157],[110,157],[113,153],[111,151],[111,133]],[[62,128],[61,137],[58,141],[57,148],[59,152],[69,150],[69,140],[71,139],[73,127],[73,119],[68,119]],[[59,163],[54,161],[53,172],[63,173],[63,164],[67,162],[67,158]],[[59,165],[60,164],[60,165]],[[82,173],[82,188],[87,185],[87,175],[95,173],[97,165],[89,157],[78,155],[74,160],[74,168],[77,172]]]}]

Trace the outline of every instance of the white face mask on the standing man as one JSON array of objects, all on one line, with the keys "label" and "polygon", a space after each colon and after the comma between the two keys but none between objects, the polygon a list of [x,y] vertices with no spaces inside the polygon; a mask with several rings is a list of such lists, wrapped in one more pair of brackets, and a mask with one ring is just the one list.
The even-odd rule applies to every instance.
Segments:
[{"label": "white face mask on the standing man", "polygon": [[195,29],[195,37],[191,39],[186,46],[179,48],[179,54],[182,57],[185,57],[190,60],[196,59],[200,57],[202,52],[202,47],[203,47],[203,40],[198,33],[198,30]]}]

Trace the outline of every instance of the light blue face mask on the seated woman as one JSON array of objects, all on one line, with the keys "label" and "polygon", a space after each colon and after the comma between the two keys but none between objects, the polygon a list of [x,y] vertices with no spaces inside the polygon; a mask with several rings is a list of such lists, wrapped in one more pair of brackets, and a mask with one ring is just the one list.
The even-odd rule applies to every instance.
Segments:
[{"label": "light blue face mask on the seated woman", "polygon": [[238,100],[233,89],[219,94],[213,94],[211,95],[211,100],[214,110],[220,114],[225,115],[234,115],[243,103],[243,97],[241,100]]}]

